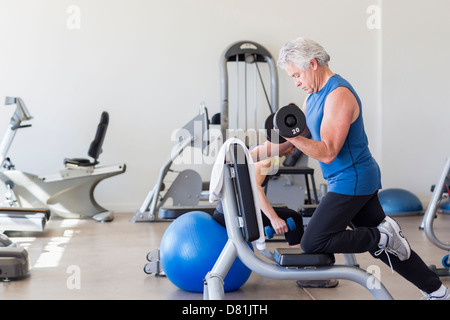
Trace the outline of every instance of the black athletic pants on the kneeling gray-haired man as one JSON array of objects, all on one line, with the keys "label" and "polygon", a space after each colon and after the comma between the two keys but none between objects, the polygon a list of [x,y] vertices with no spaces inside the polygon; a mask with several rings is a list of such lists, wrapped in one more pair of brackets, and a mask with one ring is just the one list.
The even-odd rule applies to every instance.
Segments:
[{"label": "black athletic pants on the kneeling gray-haired man", "polygon": [[[367,196],[348,196],[328,192],[314,212],[302,238],[302,248],[308,253],[362,253],[369,251],[389,265],[386,253],[375,256],[380,232],[377,226],[385,218],[378,192]],[[352,225],[353,230],[347,227]],[[441,280],[423,260],[411,250],[411,257],[400,261],[389,255],[393,269],[420,290],[431,293],[441,286]]]}]

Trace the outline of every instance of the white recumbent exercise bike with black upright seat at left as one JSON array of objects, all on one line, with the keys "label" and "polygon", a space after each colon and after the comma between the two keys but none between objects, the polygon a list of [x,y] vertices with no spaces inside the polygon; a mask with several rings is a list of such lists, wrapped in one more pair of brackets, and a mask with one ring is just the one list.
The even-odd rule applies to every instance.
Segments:
[{"label": "white recumbent exercise bike with black upright seat at left", "polygon": [[94,189],[100,181],[126,170],[125,164],[97,166],[109,123],[108,113],[102,113],[90,145],[88,155],[92,159],[66,158],[64,169],[58,173],[37,176],[16,170],[8,157],[17,130],[31,126],[22,122],[33,117],[19,97],[7,97],[5,104],[15,104],[16,110],[0,144],[0,195],[4,195],[3,202],[7,205],[0,208],[0,229],[43,231],[50,212],[62,218],[92,217],[99,222],[113,220],[113,213],[100,206],[94,198]]}]

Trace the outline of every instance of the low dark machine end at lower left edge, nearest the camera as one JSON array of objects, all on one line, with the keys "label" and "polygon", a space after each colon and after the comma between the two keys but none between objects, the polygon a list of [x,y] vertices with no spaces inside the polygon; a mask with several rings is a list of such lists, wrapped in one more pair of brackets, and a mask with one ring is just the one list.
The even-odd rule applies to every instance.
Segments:
[{"label": "low dark machine end at lower left edge, nearest the camera", "polygon": [[0,233],[0,280],[22,278],[29,270],[28,251]]}]

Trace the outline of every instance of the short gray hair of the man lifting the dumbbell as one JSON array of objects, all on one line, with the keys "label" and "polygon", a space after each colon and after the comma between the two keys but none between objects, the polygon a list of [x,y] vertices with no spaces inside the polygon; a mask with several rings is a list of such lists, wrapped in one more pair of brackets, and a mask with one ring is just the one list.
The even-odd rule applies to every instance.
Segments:
[{"label": "short gray hair of the man lifting the dumbbell", "polygon": [[277,65],[287,67],[291,62],[302,70],[308,70],[312,59],[319,66],[328,65],[330,56],[317,42],[305,38],[297,38],[286,43],[280,50]]}]

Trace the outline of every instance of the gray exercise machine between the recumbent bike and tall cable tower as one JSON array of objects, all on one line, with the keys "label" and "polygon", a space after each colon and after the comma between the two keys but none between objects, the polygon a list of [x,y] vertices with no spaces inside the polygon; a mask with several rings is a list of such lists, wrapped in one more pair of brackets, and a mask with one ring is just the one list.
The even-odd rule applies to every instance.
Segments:
[{"label": "gray exercise machine between the recumbent bike and tall cable tower", "polygon": [[[176,133],[177,143],[170,151],[161,167],[154,187],[147,194],[141,207],[136,210],[132,222],[167,221],[194,210],[213,213],[215,205],[201,204],[203,181],[200,174],[192,169],[178,173],[170,187],[165,190],[164,181],[171,171],[174,160],[188,147],[207,152],[209,144],[209,119],[205,104],[200,105],[199,113]],[[169,205],[169,199],[172,205]]]}]

